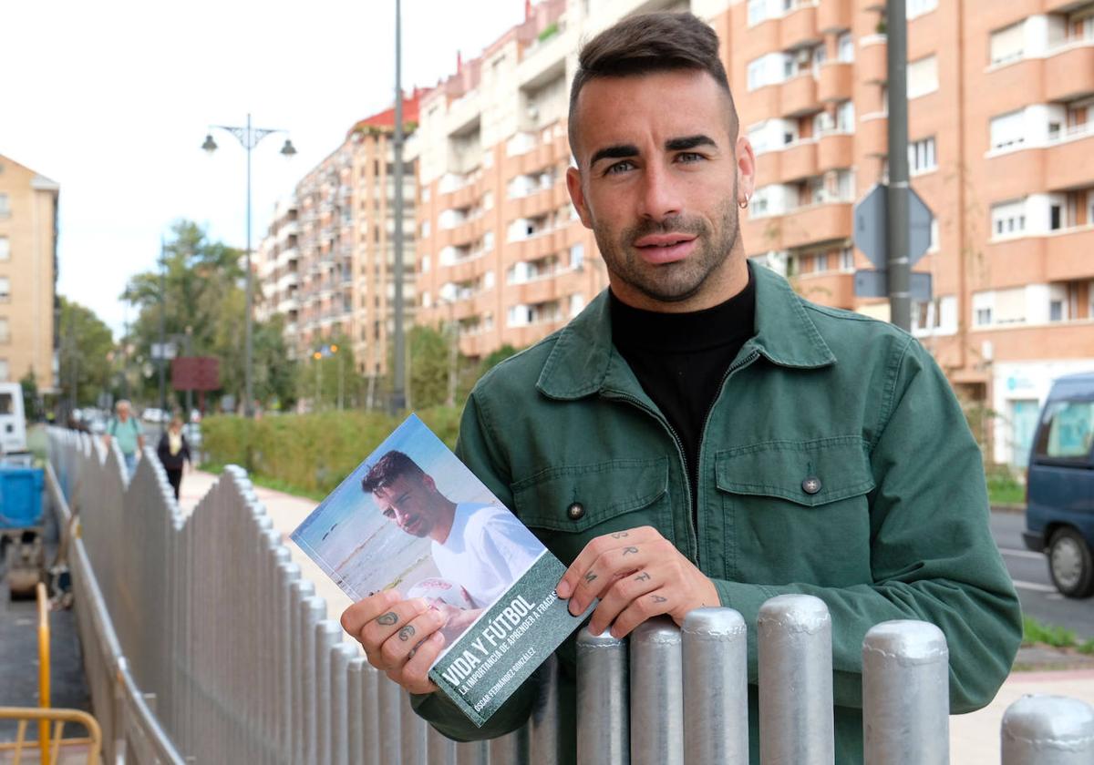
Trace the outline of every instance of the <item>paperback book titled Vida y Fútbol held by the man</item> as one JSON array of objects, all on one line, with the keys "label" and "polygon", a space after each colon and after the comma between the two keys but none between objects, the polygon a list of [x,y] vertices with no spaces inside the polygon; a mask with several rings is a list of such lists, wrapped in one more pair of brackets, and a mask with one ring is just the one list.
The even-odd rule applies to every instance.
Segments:
[{"label": "paperback book titled Vida y F\u00fatbol held by the man", "polygon": [[291,539],[353,601],[396,588],[449,615],[429,676],[479,727],[585,617],[555,590],[566,566],[414,414]]}]

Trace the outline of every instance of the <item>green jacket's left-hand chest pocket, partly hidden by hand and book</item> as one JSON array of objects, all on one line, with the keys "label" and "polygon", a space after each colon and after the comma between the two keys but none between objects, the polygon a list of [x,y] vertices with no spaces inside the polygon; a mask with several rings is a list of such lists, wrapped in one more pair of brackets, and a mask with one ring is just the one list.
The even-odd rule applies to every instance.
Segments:
[{"label": "green jacket's left-hand chest pocket, partly hidden by hand and book", "polygon": [[516,516],[566,565],[613,531],[653,526],[672,539],[667,457],[560,466],[511,489]]}]

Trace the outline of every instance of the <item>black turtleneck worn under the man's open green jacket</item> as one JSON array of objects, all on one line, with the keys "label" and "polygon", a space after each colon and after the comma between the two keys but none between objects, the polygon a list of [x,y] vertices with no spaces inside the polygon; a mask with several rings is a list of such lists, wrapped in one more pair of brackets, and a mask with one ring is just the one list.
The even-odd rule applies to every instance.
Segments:
[{"label": "black turtleneck worn under the man's open green jacket", "polygon": [[633,308],[610,294],[612,342],[679,437],[696,511],[699,442],[707,414],[741,346],[755,334],[756,290],[689,314]]}]

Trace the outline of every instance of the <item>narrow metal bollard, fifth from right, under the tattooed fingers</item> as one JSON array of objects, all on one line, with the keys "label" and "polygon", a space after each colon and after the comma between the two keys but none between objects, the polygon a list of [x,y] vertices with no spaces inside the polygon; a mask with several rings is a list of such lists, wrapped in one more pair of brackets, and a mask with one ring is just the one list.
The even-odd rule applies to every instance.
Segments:
[{"label": "narrow metal bollard, fifth from right, under the tattooed fingers", "polygon": [[630,636],[630,761],[684,763],[680,631],[667,616],[642,622]]}]

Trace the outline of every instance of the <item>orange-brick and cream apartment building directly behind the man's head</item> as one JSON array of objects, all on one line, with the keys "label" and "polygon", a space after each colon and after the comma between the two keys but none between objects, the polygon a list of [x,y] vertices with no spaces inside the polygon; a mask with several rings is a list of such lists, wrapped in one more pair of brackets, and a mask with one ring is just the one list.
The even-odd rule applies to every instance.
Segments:
[{"label": "orange-brick and cream apartment building directly behind the man's head", "polygon": [[[808,299],[857,298],[852,208],[887,176],[880,0],[542,0],[422,96],[418,321],[480,356],[561,327],[606,283],[565,186],[581,39],[690,10],[723,42],[757,191],[749,257]],[[1025,460],[1054,377],[1094,368],[1094,2],[907,0],[912,186],[935,214],[913,331],[958,393],[999,415],[993,459]]]}]

